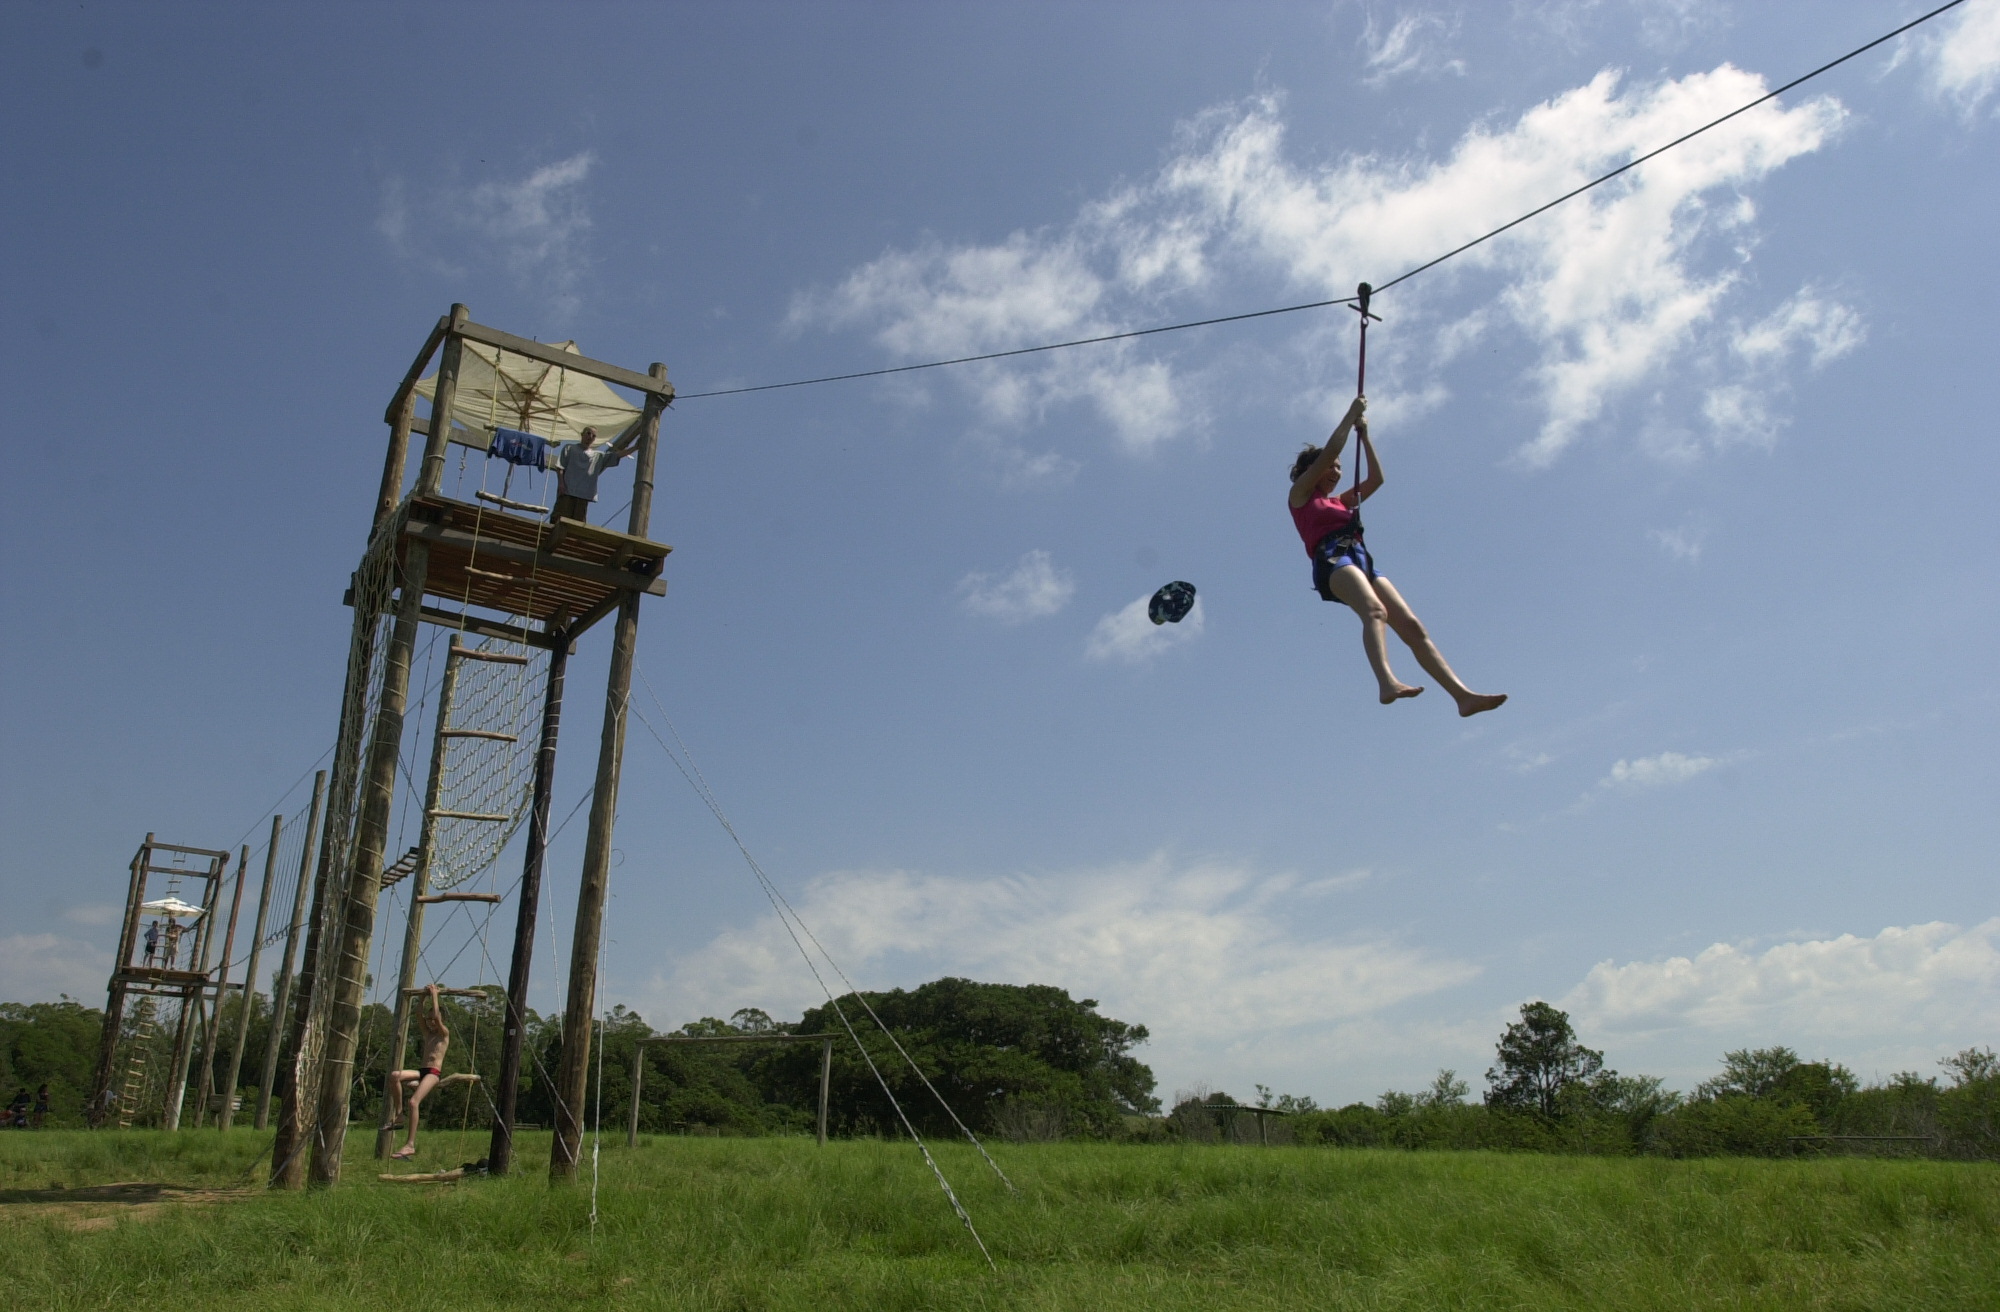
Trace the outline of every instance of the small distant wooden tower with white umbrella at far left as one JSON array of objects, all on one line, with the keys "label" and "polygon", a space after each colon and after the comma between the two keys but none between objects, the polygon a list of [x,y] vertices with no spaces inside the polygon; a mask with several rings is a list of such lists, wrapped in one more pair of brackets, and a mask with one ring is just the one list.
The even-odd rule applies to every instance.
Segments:
[{"label": "small distant wooden tower with white umbrella at far left", "polygon": [[[162,858],[170,864],[158,864]],[[158,842],[152,834],[146,834],[132,858],[118,956],[112,960],[104,1000],[98,1070],[90,1088],[90,1124],[148,1122],[162,1130],[180,1128],[188,1066],[198,1042],[212,1044],[210,1030],[226,988],[228,948],[220,966],[210,968],[208,962],[216,952],[214,922],[228,864],[228,852]],[[240,870],[236,904],[242,904]],[[234,930],[232,906],[232,936]],[[126,1016],[126,1002],[132,998],[138,998],[138,1006]],[[202,1098],[206,1094],[204,1080]]]}]

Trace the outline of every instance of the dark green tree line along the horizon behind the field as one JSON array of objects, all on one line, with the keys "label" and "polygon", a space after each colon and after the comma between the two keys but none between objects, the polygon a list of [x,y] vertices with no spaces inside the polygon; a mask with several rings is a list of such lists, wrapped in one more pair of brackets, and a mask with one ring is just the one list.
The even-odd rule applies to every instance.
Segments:
[{"label": "dark green tree line along the horizon behind the field", "polygon": [[[234,1032],[240,1006],[240,994],[224,1002],[220,1034]],[[262,1052],[270,1000],[252,994],[248,1006],[246,1052]],[[424,1120],[436,1128],[484,1128],[492,1116],[488,1090],[500,1078],[506,996],[490,986],[482,996],[446,998],[442,1006],[452,1030],[446,1072],[474,1072],[480,1082],[438,1090]],[[868,1010],[894,1032],[894,1044]],[[406,1064],[402,1054],[390,1052],[390,1024],[392,1012],[382,1004],[362,1016],[354,1116],[364,1124],[380,1118],[386,1072]],[[0,1088],[46,1082],[50,1124],[82,1124],[100,1026],[102,1012],[70,998],[0,1004]],[[612,1008],[600,1028],[602,1088],[592,1088],[586,1124],[598,1108],[608,1128],[626,1124],[638,1060],[644,1066],[638,1124],[646,1134],[812,1130],[820,1044],[648,1042],[668,1034],[836,1036],[828,1122],[834,1134],[846,1136],[900,1134],[898,1104],[920,1132],[948,1134],[954,1126],[940,1106],[942,1096],[972,1130],[1012,1140],[1236,1140],[1662,1156],[1866,1150],[2000,1158],[2000,1058],[1990,1048],[1946,1058],[1942,1076],[1900,1072],[1866,1086],[1846,1066],[1808,1062],[1792,1048],[1740,1048],[1724,1054],[1714,1078],[1678,1094],[1654,1076],[1608,1068],[1600,1050],[1582,1044],[1568,1014],[1548,1002],[1530,1002],[1494,1044],[1494,1066],[1478,1100],[1454,1070],[1440,1070],[1424,1090],[1390,1090],[1374,1102],[1342,1108],[1258,1086],[1250,1102],[1194,1090],[1176,1096],[1174,1108],[1162,1114],[1154,1074],[1134,1056],[1148,1040],[1146,1026],[1104,1016],[1096,1000],[1072,998],[1048,984],[962,978],[848,994],[838,1008],[818,1006],[794,1022],[744,1008],[728,1020],[702,1018],[660,1032],[640,1014]],[[530,1012],[518,1092],[522,1124],[554,1122],[550,1072],[560,1042],[562,1018]],[[208,1054],[208,1060],[220,1088],[226,1052]],[[196,1068],[190,1090],[198,1078]],[[258,1090],[238,1092],[248,1106]]]}]

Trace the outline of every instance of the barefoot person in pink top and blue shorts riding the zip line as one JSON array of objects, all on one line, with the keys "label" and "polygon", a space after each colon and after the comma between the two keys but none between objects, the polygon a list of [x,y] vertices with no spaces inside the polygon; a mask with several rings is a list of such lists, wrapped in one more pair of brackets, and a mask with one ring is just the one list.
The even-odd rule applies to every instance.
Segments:
[{"label": "barefoot person in pink top and blue shorts riding the zip line", "polygon": [[[1308,446],[1292,462],[1292,524],[1306,540],[1306,554],[1312,556],[1312,586],[1328,602],[1346,602],[1362,618],[1362,650],[1368,652],[1368,666],[1374,670],[1384,706],[1422,692],[1420,686],[1406,684],[1390,672],[1388,640],[1382,634],[1386,626],[1404,640],[1416,664],[1452,694],[1460,716],[1492,710],[1506,702],[1506,694],[1472,692],[1458,682],[1410,604],[1376,574],[1374,556],[1362,542],[1360,504],[1382,488],[1382,462],[1376,458],[1374,442],[1368,440],[1366,410],[1368,400],[1356,396],[1326,446]],[[1348,444],[1348,432],[1360,438],[1362,454],[1368,458],[1368,478],[1348,492],[1338,492],[1340,452]]]}]

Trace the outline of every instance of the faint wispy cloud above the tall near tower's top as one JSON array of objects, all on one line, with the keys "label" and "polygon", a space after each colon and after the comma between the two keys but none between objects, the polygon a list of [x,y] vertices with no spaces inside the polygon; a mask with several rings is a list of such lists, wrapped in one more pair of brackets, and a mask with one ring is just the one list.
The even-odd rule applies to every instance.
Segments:
[{"label": "faint wispy cloud above the tall near tower's top", "polygon": [[580,150],[522,178],[446,184],[420,196],[402,178],[388,178],[376,232],[398,256],[442,276],[462,278],[464,260],[496,264],[568,318],[582,308],[590,268],[586,182],[594,166],[596,154]]}]

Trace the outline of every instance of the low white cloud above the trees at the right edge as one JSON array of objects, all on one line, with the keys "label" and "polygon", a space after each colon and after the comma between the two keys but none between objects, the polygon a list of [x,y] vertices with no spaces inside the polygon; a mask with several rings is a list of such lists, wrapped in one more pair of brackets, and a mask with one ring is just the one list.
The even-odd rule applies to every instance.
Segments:
[{"label": "low white cloud above the trees at the right edge", "polygon": [[1990,1042],[2000,1026],[2000,918],[1970,930],[1932,922],[1762,952],[1718,942],[1692,958],[1600,962],[1562,1006],[1586,1032],[1684,1034],[1718,1054],[1738,1044],[1942,1054]]}]

